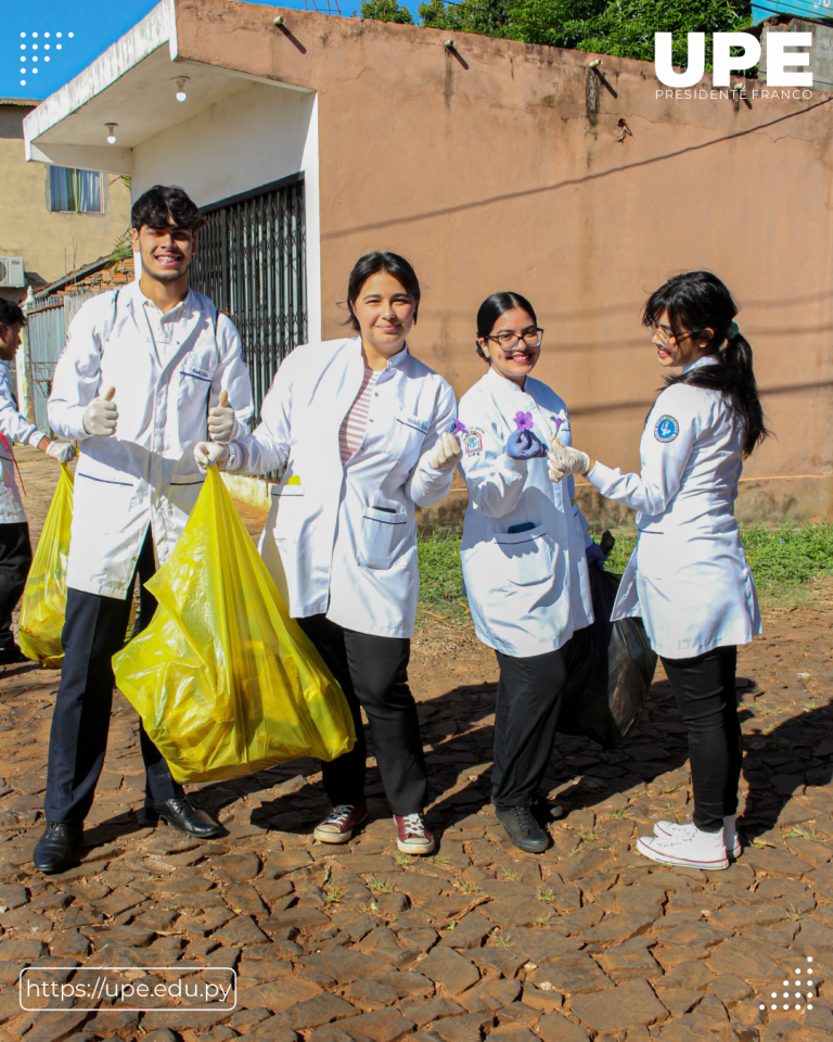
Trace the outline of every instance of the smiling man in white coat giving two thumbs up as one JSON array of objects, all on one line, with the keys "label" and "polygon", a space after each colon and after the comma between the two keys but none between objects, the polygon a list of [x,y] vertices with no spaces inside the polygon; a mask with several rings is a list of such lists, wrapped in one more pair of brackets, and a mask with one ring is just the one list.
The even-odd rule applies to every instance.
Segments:
[{"label": "smiling man in white coat giving two thumbs up", "polygon": [[[49,742],[47,827],[35,848],[59,872],[78,841],[104,762],[111,659],[125,640],[137,575],[144,584],[179,538],[205,480],[193,447],[248,433],[252,387],[240,336],[189,289],[204,218],[181,188],[155,186],[132,207],[141,278],[88,301],[55,369],[49,421],[81,443],[67,566],[64,665]],[[156,607],[141,588],[134,632]],[[198,837],[220,826],[196,810],[140,725],[146,822]]]}]

